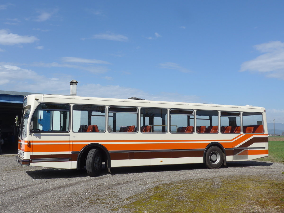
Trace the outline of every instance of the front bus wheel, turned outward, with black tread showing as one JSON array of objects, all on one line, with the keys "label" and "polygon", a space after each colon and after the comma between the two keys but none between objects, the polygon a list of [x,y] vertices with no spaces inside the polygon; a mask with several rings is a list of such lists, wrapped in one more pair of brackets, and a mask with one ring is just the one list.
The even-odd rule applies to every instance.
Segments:
[{"label": "front bus wheel, turned outward, with black tread showing", "polygon": [[87,155],[86,169],[89,176],[97,176],[102,169],[102,155],[99,149],[91,149]]}]

